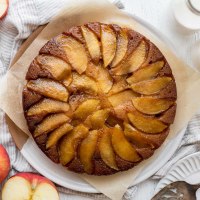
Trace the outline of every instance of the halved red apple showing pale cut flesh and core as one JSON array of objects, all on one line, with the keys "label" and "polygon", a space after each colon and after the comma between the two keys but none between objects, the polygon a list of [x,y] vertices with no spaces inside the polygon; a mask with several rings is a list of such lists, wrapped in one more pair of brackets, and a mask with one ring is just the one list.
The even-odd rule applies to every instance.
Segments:
[{"label": "halved red apple showing pale cut flesh and core", "polygon": [[18,173],[3,186],[2,200],[59,200],[55,185],[34,173]]}]

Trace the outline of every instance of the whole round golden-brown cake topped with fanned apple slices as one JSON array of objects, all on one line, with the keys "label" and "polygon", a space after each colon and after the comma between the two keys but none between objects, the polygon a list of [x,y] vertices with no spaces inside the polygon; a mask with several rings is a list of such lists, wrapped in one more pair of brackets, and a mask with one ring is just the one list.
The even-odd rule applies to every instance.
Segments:
[{"label": "whole round golden-brown cake topped with fanned apple slices", "polygon": [[164,142],[176,83],[160,50],[140,33],[91,22],[49,40],[23,90],[28,128],[55,163],[77,173],[133,168]]}]

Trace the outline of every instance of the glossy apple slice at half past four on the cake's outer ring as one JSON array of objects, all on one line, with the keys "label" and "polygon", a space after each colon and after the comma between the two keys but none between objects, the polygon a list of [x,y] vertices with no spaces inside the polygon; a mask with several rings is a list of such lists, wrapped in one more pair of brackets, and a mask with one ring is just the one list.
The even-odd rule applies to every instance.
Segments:
[{"label": "glossy apple slice at half past four on the cake's outer ring", "polygon": [[144,136],[143,133],[133,128],[130,124],[124,123],[124,135],[126,138],[139,148],[154,148],[154,145]]}]

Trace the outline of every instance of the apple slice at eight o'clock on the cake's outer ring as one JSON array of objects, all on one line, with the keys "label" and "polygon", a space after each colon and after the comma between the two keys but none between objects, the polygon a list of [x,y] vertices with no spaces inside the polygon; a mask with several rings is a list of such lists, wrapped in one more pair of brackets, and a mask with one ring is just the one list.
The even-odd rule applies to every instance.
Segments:
[{"label": "apple slice at eight o'clock on the cake's outer ring", "polygon": [[63,113],[49,115],[36,127],[33,134],[37,137],[49,133],[67,121],[69,118]]}]

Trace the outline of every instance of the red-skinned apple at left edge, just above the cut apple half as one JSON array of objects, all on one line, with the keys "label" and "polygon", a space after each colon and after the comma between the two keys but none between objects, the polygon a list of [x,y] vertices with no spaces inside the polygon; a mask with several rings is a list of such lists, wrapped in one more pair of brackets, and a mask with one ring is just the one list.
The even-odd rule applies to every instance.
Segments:
[{"label": "red-skinned apple at left edge, just above the cut apple half", "polygon": [[10,159],[6,149],[0,145],[0,183],[6,178],[10,171]]}]

